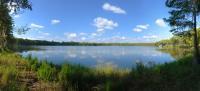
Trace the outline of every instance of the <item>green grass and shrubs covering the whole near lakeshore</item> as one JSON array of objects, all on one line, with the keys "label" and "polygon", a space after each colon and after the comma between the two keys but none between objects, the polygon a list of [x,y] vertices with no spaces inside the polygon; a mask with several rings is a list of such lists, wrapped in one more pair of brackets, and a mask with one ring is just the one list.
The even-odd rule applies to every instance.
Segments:
[{"label": "green grass and shrubs covering the whole near lakeshore", "polygon": [[200,66],[192,57],[131,71],[56,66],[31,56],[0,54],[0,90],[46,91],[199,91]]}]

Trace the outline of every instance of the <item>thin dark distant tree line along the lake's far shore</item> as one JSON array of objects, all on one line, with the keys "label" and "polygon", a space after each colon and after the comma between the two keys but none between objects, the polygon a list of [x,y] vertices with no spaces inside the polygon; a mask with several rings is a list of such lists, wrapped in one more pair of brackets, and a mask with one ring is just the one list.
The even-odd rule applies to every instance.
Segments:
[{"label": "thin dark distant tree line along the lake's far shore", "polygon": [[46,40],[16,39],[15,45],[21,46],[154,46],[154,43],[91,43],[91,42],[55,42]]}]

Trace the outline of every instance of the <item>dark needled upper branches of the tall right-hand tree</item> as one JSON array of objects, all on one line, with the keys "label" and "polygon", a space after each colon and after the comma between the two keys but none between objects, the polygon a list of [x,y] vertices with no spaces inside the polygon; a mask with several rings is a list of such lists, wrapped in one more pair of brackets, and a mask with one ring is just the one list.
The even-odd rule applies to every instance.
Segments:
[{"label": "dark needled upper branches of the tall right-hand tree", "polygon": [[172,26],[172,33],[183,35],[187,33],[184,29],[194,28],[193,19],[200,14],[199,0],[166,0],[166,6],[170,8],[170,17],[165,20]]}]

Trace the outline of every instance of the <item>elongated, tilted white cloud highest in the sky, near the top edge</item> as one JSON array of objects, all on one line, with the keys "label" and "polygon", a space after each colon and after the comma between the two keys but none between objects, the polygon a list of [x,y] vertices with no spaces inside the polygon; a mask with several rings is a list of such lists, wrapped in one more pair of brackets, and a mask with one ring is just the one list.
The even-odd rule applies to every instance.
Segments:
[{"label": "elongated, tilted white cloud highest in the sky, near the top edge", "polygon": [[126,11],[123,10],[122,8],[118,7],[118,6],[114,6],[111,5],[109,3],[105,3],[102,8],[106,11],[111,11],[113,13],[117,13],[117,14],[126,14]]}]

